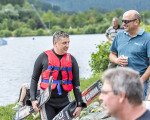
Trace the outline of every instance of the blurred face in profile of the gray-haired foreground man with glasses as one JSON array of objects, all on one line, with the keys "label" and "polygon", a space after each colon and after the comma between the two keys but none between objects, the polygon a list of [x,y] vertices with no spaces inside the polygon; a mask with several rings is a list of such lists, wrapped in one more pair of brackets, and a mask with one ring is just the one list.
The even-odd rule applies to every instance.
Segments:
[{"label": "blurred face in profile of the gray-haired foreground man with glasses", "polygon": [[103,102],[107,114],[116,116],[119,107],[119,97],[113,93],[111,84],[104,82],[99,100]]}]

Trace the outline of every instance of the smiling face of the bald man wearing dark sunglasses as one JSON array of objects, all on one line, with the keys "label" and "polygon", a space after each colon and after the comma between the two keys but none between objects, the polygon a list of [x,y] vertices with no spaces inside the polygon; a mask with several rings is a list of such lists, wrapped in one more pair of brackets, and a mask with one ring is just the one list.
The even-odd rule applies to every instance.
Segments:
[{"label": "smiling face of the bald man wearing dark sunglasses", "polygon": [[[134,20],[134,17],[128,13],[125,13],[122,20]],[[135,22],[136,20],[129,23],[123,22],[122,25],[124,26],[124,30],[129,33],[132,32],[134,29],[136,29]]]}]

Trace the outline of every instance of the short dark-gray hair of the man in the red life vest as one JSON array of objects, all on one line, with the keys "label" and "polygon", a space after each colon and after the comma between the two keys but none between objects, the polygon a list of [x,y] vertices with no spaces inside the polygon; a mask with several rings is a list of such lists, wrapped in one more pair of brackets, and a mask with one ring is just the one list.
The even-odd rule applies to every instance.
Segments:
[{"label": "short dark-gray hair of the man in the red life vest", "polygon": [[57,31],[53,34],[53,43],[54,41],[58,42],[61,39],[61,37],[69,38],[69,35],[64,31]]}]

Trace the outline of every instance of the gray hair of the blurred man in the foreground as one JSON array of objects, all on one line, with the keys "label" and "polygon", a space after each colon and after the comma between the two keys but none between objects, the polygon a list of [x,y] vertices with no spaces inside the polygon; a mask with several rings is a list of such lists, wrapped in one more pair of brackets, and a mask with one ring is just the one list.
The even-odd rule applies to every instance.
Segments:
[{"label": "gray hair of the blurred man in the foreground", "polygon": [[115,95],[124,92],[129,103],[133,105],[142,103],[143,84],[139,72],[131,68],[119,67],[106,70],[102,78],[112,85]]}]

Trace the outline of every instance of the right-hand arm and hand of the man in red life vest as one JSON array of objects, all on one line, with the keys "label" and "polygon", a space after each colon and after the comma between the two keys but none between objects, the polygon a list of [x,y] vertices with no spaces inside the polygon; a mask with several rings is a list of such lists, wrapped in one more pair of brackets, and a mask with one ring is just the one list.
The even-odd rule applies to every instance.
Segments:
[{"label": "right-hand arm and hand of the man in red life vest", "polygon": [[75,109],[73,116],[77,118],[80,116],[81,109],[82,109],[82,97],[81,97],[81,89],[80,89],[80,82],[79,82],[79,67],[78,63],[73,56],[72,59],[72,73],[73,73],[73,91],[77,101],[77,108]]}]

